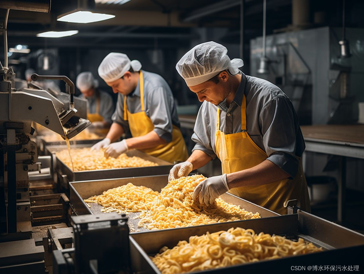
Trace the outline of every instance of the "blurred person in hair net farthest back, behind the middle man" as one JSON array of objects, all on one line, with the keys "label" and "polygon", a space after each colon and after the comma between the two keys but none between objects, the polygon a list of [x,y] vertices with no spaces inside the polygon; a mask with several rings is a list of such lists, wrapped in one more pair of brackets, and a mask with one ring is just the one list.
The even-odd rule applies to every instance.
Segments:
[{"label": "blurred person in hair net farthest back, behind the middle man", "polygon": [[112,123],[114,103],[111,95],[98,86],[98,80],[90,71],[81,72],[76,78],[76,87],[81,92],[79,97],[87,100],[87,119],[91,122],[89,129],[105,136]]}]

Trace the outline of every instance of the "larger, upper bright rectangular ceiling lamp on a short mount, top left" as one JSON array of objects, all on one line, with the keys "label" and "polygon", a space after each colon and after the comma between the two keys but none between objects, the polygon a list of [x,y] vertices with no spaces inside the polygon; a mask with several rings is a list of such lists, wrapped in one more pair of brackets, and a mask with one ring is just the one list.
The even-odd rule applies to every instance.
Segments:
[{"label": "larger, upper bright rectangular ceiling lamp on a short mount, top left", "polygon": [[57,16],[57,21],[87,24],[114,17],[115,15],[95,12],[94,0],[77,0],[77,8]]}]

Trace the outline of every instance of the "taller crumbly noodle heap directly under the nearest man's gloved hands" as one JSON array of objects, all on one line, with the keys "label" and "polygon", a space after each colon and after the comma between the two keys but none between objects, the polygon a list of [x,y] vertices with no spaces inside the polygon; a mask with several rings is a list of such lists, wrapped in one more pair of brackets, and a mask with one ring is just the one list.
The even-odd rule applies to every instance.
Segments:
[{"label": "taller crumbly noodle heap directly under the nearest man's gloved hands", "polygon": [[221,198],[209,207],[193,201],[193,191],[204,179],[202,175],[193,175],[170,181],[154,199],[150,210],[142,211],[138,226],[166,229],[260,218],[259,213],[246,211]]}]

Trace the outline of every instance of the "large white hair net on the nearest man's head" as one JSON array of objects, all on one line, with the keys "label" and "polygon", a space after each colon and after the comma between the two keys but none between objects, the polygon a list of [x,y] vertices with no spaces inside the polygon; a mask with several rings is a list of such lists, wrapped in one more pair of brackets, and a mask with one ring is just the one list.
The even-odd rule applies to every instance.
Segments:
[{"label": "large white hair net on the nearest man's head", "polygon": [[199,44],[182,56],[176,64],[176,70],[185,79],[187,86],[206,82],[223,70],[235,75],[244,62],[237,58],[230,60],[226,53],[227,48],[216,42]]}]

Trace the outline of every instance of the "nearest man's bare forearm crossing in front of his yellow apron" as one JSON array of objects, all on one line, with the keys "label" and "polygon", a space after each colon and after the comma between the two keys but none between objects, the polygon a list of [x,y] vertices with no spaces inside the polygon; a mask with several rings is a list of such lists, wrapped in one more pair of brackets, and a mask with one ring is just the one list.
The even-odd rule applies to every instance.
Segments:
[{"label": "nearest man's bare forearm crossing in front of his yellow apron", "polygon": [[288,178],[289,175],[276,164],[265,160],[255,167],[226,175],[229,188],[260,186]]}]

